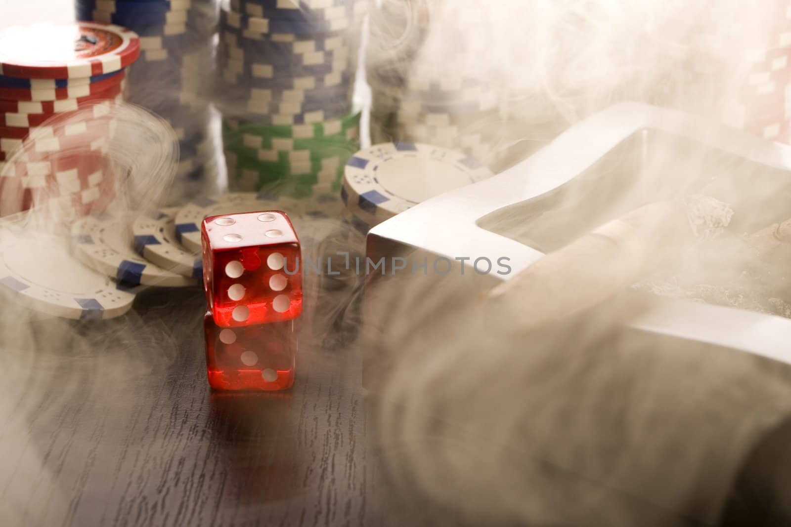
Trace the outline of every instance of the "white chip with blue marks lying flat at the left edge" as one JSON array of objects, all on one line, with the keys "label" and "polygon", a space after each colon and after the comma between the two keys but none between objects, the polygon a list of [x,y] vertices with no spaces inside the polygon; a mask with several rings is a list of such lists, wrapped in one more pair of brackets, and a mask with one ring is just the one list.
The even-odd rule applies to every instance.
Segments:
[{"label": "white chip with blue marks lying flat at the left edge", "polygon": [[101,320],[129,311],[136,288],[116,284],[82,265],[70,254],[65,236],[4,222],[0,225],[0,291],[13,303],[34,311]]}]

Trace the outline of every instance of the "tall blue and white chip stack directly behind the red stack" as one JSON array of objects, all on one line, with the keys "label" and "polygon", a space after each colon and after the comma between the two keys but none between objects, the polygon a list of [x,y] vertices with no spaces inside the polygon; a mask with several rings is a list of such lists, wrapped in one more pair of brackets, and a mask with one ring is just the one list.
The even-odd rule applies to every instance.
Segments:
[{"label": "tall blue and white chip stack directly behind the red stack", "polygon": [[140,35],[127,100],[176,130],[180,163],[171,201],[202,194],[216,179],[211,137],[216,0],[75,0],[78,19],[112,22]]}]

